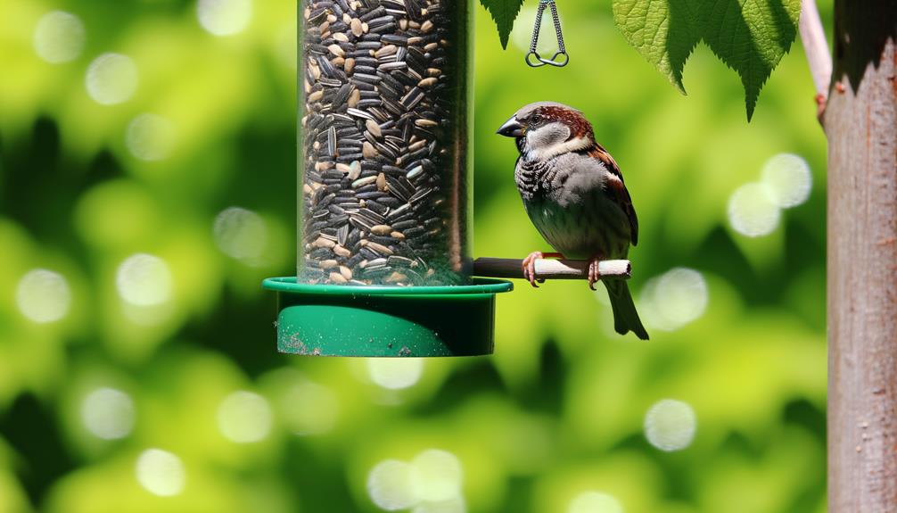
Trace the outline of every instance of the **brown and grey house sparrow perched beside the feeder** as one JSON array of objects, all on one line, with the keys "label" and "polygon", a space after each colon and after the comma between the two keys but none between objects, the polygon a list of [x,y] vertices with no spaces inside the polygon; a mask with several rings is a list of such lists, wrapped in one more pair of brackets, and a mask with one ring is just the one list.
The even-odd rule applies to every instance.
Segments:
[{"label": "brown and grey house sparrow perched beside the feeder", "polygon": [[[514,137],[520,156],[514,178],[536,230],[559,253],[534,251],[523,274],[536,285],[536,259],[588,259],[588,286],[600,278],[598,262],[626,258],[639,241],[639,220],[623,175],[600,144],[588,120],[562,103],[539,101],[519,109],[498,130]],[[639,313],[623,280],[605,281],[614,309],[614,329],[647,340]]]}]

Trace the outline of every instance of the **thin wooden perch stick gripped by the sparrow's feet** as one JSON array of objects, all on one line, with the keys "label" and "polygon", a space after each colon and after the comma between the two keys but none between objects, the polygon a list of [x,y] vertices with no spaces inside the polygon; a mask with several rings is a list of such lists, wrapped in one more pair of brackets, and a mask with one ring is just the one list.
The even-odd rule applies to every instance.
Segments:
[{"label": "thin wooden perch stick gripped by the sparrow's feet", "polygon": [[[628,280],[631,275],[629,260],[602,260],[598,263],[602,279]],[[474,274],[492,278],[523,278],[523,260],[514,258],[477,258]],[[588,260],[536,260],[536,278],[539,280],[586,280]]]}]

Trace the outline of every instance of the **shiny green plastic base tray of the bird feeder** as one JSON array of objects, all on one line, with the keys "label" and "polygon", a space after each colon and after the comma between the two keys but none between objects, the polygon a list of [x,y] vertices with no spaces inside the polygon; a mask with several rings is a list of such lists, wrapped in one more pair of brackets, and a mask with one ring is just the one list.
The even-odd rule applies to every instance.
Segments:
[{"label": "shiny green plastic base tray of the bird feeder", "polygon": [[492,354],[495,294],[510,282],[379,287],[308,285],[268,278],[277,291],[277,349],[320,356]]}]

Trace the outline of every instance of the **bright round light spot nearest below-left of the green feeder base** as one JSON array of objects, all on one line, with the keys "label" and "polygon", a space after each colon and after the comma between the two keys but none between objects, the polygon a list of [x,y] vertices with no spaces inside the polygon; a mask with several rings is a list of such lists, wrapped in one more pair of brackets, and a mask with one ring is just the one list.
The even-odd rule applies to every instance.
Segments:
[{"label": "bright round light spot nearest below-left of the green feeder base", "polygon": [[237,443],[263,440],[271,432],[271,406],[258,394],[234,392],[218,406],[218,430]]}]

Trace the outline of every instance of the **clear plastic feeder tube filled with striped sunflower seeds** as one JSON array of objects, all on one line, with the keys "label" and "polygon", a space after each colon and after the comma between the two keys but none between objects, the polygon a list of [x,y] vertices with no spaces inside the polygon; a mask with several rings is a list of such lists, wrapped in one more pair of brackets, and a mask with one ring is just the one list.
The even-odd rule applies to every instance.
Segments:
[{"label": "clear plastic feeder tube filled with striped sunflower seeds", "polygon": [[468,0],[300,0],[300,283],[469,282]]}]

